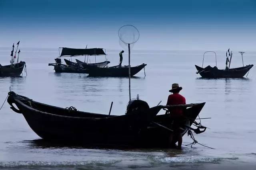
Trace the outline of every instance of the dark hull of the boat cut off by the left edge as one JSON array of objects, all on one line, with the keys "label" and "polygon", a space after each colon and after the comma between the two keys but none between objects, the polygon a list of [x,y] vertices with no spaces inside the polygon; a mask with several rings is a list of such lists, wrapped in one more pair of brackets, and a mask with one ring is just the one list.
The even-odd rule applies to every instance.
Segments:
[{"label": "dark hull of the boat cut off by the left edge", "polygon": [[6,66],[2,66],[0,65],[0,76],[1,77],[5,77],[5,76],[20,76],[20,74],[23,71],[23,68],[25,66],[25,62],[24,61],[20,61],[20,63],[15,64],[15,66],[11,66],[11,65],[6,65]]}]

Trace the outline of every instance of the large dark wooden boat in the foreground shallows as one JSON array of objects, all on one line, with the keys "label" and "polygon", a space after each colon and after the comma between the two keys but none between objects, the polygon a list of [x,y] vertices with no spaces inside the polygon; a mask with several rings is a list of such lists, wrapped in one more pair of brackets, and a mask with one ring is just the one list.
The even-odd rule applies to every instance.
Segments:
[{"label": "large dark wooden boat in the foreground shallows", "polygon": [[[191,127],[205,103],[149,107],[142,100],[132,100],[125,115],[110,115],[110,112],[98,114],[78,111],[75,107],[50,106],[12,91],[8,94],[10,108],[21,113],[30,128],[42,139],[57,143],[167,147],[168,137],[172,133],[168,127],[172,120],[169,115],[157,114],[161,109],[170,107],[189,107],[185,111],[186,120],[181,125],[182,135],[188,129],[195,133],[202,133],[206,129],[200,124],[196,125],[197,129]],[[176,141],[174,139],[174,143]]]}]

